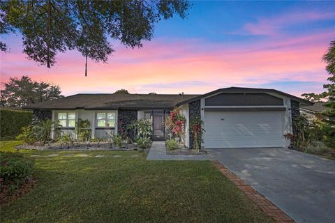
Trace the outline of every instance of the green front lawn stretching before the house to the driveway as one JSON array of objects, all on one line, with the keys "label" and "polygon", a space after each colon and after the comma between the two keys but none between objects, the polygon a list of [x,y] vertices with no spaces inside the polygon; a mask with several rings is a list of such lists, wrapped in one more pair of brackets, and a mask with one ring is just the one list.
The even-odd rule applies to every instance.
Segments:
[{"label": "green front lawn stretching before the house to the driveway", "polygon": [[[0,150],[17,144],[2,141]],[[147,161],[135,151],[23,153],[41,155],[38,183],[1,207],[0,222],[271,222],[208,161]]]}]

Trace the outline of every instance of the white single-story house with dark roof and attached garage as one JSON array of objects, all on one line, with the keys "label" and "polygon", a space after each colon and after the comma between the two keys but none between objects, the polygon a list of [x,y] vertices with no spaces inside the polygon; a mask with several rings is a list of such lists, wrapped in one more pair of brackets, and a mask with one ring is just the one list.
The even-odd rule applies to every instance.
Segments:
[{"label": "white single-story house with dark roof and attached garage", "polygon": [[[300,105],[313,102],[274,89],[230,87],[203,95],[183,94],[77,94],[29,105],[34,121],[51,118],[61,130],[75,134],[78,118],[89,120],[91,137],[117,134],[134,120],[151,118],[152,139],[168,139],[165,117],[174,107],[186,116],[186,146],[193,146],[189,132],[192,116],[204,121],[204,148],[286,147],[284,134],[292,133],[292,120]],[[52,138],[57,134],[52,131]]]}]

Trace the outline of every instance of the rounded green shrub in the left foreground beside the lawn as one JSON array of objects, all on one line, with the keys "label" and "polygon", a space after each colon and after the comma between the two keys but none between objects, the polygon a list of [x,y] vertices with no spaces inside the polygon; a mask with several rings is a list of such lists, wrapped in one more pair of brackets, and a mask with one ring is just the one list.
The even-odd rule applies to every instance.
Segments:
[{"label": "rounded green shrub in the left foreground beside the lawn", "polygon": [[7,187],[13,192],[31,177],[34,161],[24,157],[21,153],[0,152],[0,185],[1,191]]}]

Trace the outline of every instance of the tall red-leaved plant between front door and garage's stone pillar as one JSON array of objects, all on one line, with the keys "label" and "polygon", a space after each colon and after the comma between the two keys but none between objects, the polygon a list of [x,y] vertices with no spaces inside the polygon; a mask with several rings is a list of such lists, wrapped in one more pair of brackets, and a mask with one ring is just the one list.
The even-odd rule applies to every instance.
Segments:
[{"label": "tall red-leaved plant between front door and garage's stone pillar", "polygon": [[184,128],[185,128],[186,118],[184,114],[181,114],[179,108],[174,108],[172,112],[165,118],[165,126],[168,130],[180,137],[184,143]]}]

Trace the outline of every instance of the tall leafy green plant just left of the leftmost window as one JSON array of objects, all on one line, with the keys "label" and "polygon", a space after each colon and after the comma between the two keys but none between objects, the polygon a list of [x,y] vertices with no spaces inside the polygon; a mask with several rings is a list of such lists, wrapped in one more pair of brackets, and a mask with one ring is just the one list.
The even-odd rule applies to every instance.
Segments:
[{"label": "tall leafy green plant just left of the leftmost window", "polygon": [[59,125],[58,121],[51,121],[50,119],[46,119],[43,121],[38,122],[36,125],[34,125],[33,128],[33,134],[42,143],[42,145],[45,145],[45,141],[47,139],[50,139],[50,134],[52,128],[54,130],[57,130],[61,125]]}]

